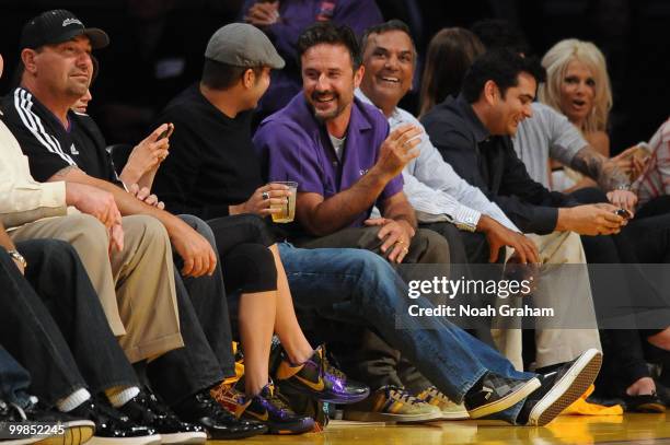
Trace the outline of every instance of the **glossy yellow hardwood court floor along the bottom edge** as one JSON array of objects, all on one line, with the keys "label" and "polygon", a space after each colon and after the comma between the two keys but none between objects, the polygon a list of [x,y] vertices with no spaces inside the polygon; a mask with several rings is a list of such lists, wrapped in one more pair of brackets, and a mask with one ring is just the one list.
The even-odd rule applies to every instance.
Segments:
[{"label": "glossy yellow hardwood court floor along the bottom edge", "polygon": [[[300,436],[256,436],[220,441],[217,445],[545,445],[626,444],[670,445],[670,415],[625,414],[612,417],[561,415],[544,428],[505,426],[500,422],[435,422],[421,425],[383,425],[333,421],[324,433]],[[209,442],[208,445],[212,445]]]}]

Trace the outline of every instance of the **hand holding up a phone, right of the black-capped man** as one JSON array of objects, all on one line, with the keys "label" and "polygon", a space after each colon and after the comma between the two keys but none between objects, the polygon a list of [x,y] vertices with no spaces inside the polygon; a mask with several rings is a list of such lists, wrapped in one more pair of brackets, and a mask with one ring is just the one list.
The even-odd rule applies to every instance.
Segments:
[{"label": "hand holding up a phone, right of the black-capped man", "polygon": [[[124,171],[119,175],[124,184],[136,184],[147,173],[158,169],[168,157],[170,134],[172,134],[173,129],[172,124],[163,124],[135,145]],[[164,133],[165,136],[163,136]]]}]

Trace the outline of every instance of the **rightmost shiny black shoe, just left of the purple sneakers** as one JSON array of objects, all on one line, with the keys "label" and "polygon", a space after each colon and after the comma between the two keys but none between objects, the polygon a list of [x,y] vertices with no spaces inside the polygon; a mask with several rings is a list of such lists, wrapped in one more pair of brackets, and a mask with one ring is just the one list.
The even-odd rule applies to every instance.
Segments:
[{"label": "rightmost shiny black shoe, just left of the purple sneakers", "polygon": [[267,426],[257,422],[236,419],[204,390],[173,407],[180,419],[201,425],[212,441],[251,437],[267,432]]}]

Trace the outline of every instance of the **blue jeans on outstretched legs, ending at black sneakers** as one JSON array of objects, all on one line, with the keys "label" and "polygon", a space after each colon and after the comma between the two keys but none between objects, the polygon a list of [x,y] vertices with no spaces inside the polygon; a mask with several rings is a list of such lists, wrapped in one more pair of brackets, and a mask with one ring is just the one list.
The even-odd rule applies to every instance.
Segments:
[{"label": "blue jeans on outstretched legs, ending at black sneakers", "polygon": [[[432,303],[423,297],[408,300],[405,282],[386,260],[371,251],[302,249],[281,243],[279,254],[297,305],[320,308],[321,313],[332,308],[338,319],[346,311],[357,318],[351,323],[371,325],[455,402],[462,402],[486,372],[522,380],[534,377],[517,372],[499,352],[444,317],[419,320],[409,316],[409,305],[430,308]],[[515,423],[521,406],[519,402],[496,418]]]}]

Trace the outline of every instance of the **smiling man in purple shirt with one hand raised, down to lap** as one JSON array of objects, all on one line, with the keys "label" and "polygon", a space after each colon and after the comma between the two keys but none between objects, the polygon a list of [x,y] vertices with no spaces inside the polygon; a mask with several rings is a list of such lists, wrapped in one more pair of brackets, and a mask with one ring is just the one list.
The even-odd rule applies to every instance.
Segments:
[{"label": "smiling man in purple shirt with one hand raised, down to lap", "polygon": [[[362,69],[350,30],[317,24],[298,47],[303,93],[264,120],[254,137],[268,178],[298,183],[293,241],[368,248],[396,264],[447,265],[446,241],[417,231],[402,191],[400,175],[418,154],[420,129],[402,126],[389,134],[383,115],[354,97]],[[374,204],[383,218],[369,219]]]}]

